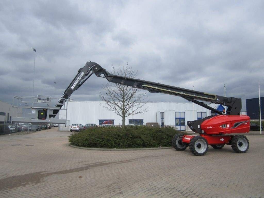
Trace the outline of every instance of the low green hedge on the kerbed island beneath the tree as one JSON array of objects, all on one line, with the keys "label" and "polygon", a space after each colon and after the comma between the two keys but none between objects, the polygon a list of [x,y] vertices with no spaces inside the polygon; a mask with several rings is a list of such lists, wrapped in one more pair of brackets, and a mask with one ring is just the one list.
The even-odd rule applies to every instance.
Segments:
[{"label": "low green hedge on the kerbed island beneath the tree", "polygon": [[171,139],[180,132],[172,127],[96,127],[70,135],[69,142],[75,146],[93,148],[170,147]]}]

